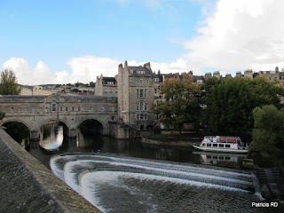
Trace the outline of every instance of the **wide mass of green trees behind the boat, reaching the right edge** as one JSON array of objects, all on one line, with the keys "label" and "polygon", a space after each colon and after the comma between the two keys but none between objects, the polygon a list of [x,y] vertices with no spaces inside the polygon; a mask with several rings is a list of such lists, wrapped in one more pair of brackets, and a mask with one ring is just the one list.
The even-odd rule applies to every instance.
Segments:
[{"label": "wide mass of green trees behind the boat, reaching the right edge", "polygon": [[253,80],[224,78],[220,83],[210,79],[207,90],[203,122],[215,133],[230,135],[253,128],[252,111],[256,106],[272,104],[280,108],[280,97],[284,94],[279,83],[271,83],[264,76]]}]

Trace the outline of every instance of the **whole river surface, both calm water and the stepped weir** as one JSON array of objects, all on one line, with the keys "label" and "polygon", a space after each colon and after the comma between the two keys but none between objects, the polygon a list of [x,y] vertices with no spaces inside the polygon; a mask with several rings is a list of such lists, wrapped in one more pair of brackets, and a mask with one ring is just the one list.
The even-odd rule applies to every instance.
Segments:
[{"label": "whole river surface, both calm water and the stepped weir", "polygon": [[243,155],[143,145],[44,125],[29,152],[104,212],[275,212],[263,201]]}]

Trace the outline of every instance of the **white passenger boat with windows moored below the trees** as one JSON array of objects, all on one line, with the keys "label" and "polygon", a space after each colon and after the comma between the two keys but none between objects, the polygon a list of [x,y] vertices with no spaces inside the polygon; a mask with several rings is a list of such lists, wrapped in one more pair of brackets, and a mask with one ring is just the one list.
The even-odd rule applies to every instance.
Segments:
[{"label": "white passenger boat with windows moored below the trees", "polygon": [[239,137],[205,136],[199,145],[193,144],[193,147],[211,152],[248,153],[248,146],[244,146]]}]

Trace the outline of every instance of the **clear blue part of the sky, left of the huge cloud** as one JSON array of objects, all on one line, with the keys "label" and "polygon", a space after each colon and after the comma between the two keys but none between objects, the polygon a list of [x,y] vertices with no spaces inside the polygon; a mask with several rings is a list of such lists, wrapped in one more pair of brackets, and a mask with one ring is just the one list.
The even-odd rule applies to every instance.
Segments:
[{"label": "clear blue part of the sky, left of the huge cloud", "polygon": [[[167,2],[167,1],[165,1]],[[11,57],[38,60],[55,70],[68,69],[73,57],[169,61],[185,50],[181,42],[196,33],[201,4],[177,1],[14,1],[0,3],[1,63]],[[167,5],[168,4],[168,5]],[[180,42],[180,43],[178,43]]]}]

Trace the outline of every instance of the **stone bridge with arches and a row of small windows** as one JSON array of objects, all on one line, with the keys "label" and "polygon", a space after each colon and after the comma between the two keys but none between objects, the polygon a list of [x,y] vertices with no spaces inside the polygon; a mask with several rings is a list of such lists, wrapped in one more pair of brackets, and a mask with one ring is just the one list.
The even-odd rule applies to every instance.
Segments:
[{"label": "stone bridge with arches and a row of small windows", "polygon": [[75,137],[78,126],[96,121],[99,133],[109,135],[109,122],[117,122],[117,99],[99,96],[0,96],[0,111],[6,122],[21,122],[30,130],[31,138],[39,138],[40,128],[49,121],[63,122],[65,134]]}]

